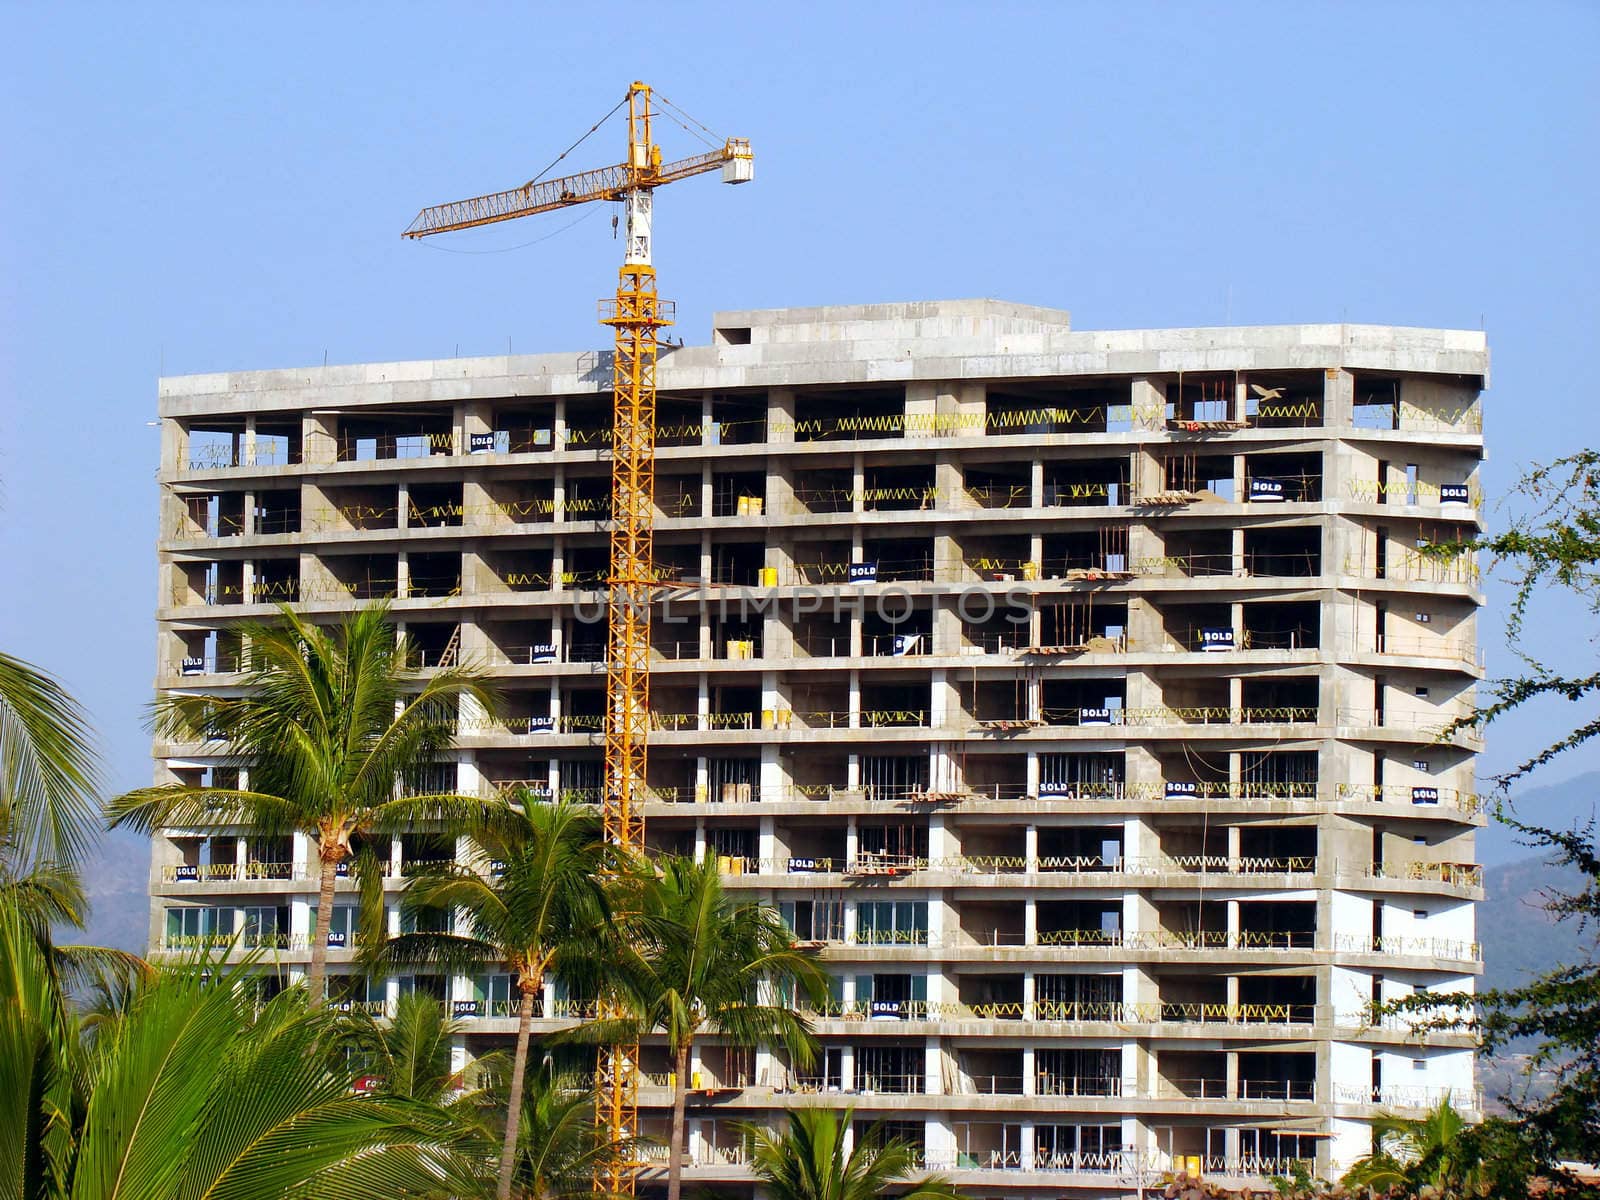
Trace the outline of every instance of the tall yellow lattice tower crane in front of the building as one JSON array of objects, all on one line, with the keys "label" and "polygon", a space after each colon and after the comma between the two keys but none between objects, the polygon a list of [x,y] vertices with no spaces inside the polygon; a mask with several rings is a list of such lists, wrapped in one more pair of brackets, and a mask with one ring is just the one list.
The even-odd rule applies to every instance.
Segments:
[{"label": "tall yellow lattice tower crane in front of the building", "polygon": [[[656,99],[674,107],[661,96]],[[622,203],[626,240],[616,298],[600,302],[600,323],[610,325],[616,338],[611,366],[611,570],[606,605],[603,821],[605,835],[613,845],[642,854],[650,736],[650,603],[656,589],[656,339],[662,326],[672,323],[672,301],[656,296],[651,200],[654,189],[662,184],[718,168],[723,182],[749,182],[754,158],[747,139],[728,138],[704,154],[662,163],[661,147],[651,130],[651,90],[635,82],[627,90],[627,98],[611,112],[618,112],[622,104],[627,104],[627,157],[616,166],[557,179],[533,179],[509,192],[424,208],[405,230],[405,237],[474,229],[590,200]],[[603,122],[605,118],[600,123]],[[634,1192],[640,1168],[632,1149],[638,1139],[637,1093],[638,1046],[603,1048],[595,1075],[595,1120],[616,1149],[595,1174],[597,1192]]]}]

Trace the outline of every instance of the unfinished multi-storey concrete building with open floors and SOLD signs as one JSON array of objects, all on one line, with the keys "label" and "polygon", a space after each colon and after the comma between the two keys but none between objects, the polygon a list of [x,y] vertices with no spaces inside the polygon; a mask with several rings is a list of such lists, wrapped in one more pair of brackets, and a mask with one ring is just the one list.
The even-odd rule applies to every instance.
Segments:
[{"label": "unfinished multi-storey concrete building with open floors and SOLD signs", "polygon": [[[1368,1006],[1480,971],[1478,742],[1442,730],[1482,595],[1418,547],[1478,528],[1486,378],[1480,333],[994,301],[726,312],[662,355],[650,843],[834,978],[811,1069],[699,1046],[688,1178],[738,1187],[733,1122],[798,1106],[976,1197],[1326,1171],[1379,1112],[1477,1107],[1466,1040]],[[237,686],[272,602],[395,597],[418,670],[506,693],[426,786],[598,798],[608,386],[594,352],[163,379],[158,685]],[[395,891],[458,853],[379,850]],[[157,950],[245,931],[293,976],[312,904],[299,838],[157,840]],[[462,1054],[514,1027],[504,976],[339,995],[402,989]],[[552,982],[541,1027],[571,1014]]]}]

